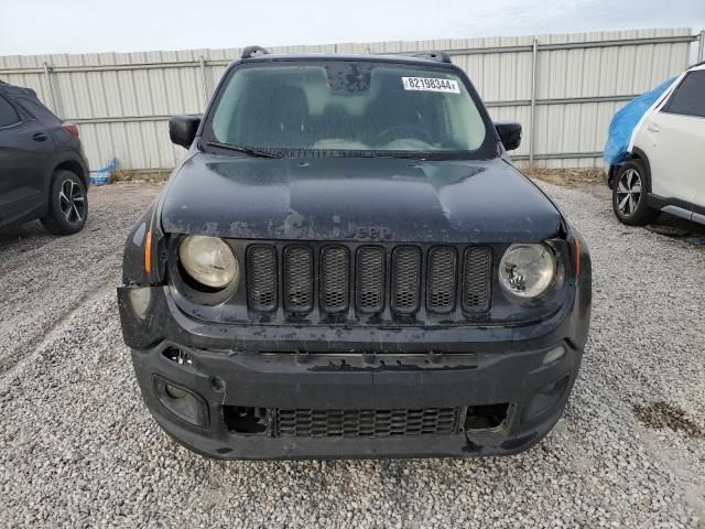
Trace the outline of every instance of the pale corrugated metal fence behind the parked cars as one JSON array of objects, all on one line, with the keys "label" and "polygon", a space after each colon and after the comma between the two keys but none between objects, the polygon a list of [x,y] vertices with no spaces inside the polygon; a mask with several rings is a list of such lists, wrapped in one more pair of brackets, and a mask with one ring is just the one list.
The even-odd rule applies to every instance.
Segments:
[{"label": "pale corrugated metal fence behind the parked cars", "polygon": [[[494,119],[524,127],[517,160],[546,166],[600,163],[609,120],[625,101],[688,64],[705,32],[660,29],[437,41],[286,46],[273,52],[410,53],[444,50]],[[699,42],[697,42],[699,41]],[[199,114],[240,48],[0,57],[0,79],[31,87],[59,117],[80,123],[93,168],[170,169],[184,154],[166,121]]]}]

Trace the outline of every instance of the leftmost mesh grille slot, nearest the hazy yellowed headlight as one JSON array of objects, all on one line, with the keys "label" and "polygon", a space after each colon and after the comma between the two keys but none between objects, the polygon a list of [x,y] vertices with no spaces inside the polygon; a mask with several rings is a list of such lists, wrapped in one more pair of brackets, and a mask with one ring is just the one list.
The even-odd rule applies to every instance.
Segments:
[{"label": "leftmost mesh grille slot, nearest the hazy yellowed headlight", "polygon": [[250,309],[269,312],[276,309],[276,250],[253,245],[247,250],[247,299]]}]

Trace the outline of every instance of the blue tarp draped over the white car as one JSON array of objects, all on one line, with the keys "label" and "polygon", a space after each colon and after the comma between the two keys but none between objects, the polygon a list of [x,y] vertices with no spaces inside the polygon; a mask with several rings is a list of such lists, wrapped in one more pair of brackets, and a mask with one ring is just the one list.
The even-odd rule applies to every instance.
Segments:
[{"label": "blue tarp draped over the white car", "polygon": [[615,114],[609,123],[607,143],[603,153],[603,159],[609,165],[618,165],[627,159],[629,140],[634,128],[639,125],[639,120],[674,80],[675,77],[664,80],[653,90],[632,99]]}]

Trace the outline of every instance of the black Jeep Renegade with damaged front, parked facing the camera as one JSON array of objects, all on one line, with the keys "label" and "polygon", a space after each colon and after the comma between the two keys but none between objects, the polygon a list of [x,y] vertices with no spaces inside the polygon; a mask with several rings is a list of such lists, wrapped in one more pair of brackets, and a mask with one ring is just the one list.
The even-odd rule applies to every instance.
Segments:
[{"label": "black Jeep Renegade with damaged front, parked facing the camera", "polygon": [[511,454],[561,417],[590,260],[442,53],[246,50],[128,237],[147,406],[213,457]]}]

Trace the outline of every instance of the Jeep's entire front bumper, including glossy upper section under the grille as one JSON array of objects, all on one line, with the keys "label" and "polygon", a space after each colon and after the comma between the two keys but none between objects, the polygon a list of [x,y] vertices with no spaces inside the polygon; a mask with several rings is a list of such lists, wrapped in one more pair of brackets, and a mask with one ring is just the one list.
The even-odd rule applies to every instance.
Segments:
[{"label": "Jeep's entire front bumper, including glossy upper section under the grille", "polygon": [[[148,408],[178,442],[218,458],[467,457],[523,451],[560,419],[589,320],[589,300],[581,302],[578,294],[565,312],[523,331],[358,330],[368,333],[367,353],[349,353],[359,350],[364,335],[209,325],[183,314],[169,289],[160,287],[150,288],[150,310],[140,320],[130,289],[118,290],[120,315]],[[557,346],[565,353],[546,363]],[[302,349],[308,353],[296,353]],[[164,384],[197,396],[199,425],[170,408]],[[466,422],[473,410],[503,404],[498,424]],[[232,407],[260,410],[267,428],[234,430],[227,420]],[[460,419],[443,435],[297,436],[280,435],[273,427],[282,409],[448,407],[460,410]]]}]

